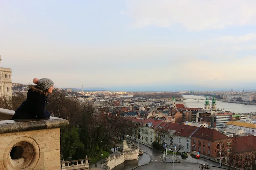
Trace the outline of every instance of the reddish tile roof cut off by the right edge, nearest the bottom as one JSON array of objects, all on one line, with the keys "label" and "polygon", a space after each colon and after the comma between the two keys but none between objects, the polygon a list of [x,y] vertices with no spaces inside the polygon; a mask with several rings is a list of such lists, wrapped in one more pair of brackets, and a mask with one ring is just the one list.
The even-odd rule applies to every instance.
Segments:
[{"label": "reddish tile roof cut off by the right edge, nearest the bottom", "polygon": [[256,151],[256,136],[233,137],[233,152],[244,153]]}]

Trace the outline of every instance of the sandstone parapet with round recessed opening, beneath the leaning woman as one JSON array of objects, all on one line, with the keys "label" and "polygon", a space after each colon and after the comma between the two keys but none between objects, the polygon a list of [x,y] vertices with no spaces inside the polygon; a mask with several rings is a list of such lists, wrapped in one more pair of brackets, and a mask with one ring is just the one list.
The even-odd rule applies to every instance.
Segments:
[{"label": "sandstone parapet with round recessed opening, beneath the leaning woman", "polygon": [[10,120],[14,111],[0,109],[0,169],[59,170],[60,127],[65,119]]}]

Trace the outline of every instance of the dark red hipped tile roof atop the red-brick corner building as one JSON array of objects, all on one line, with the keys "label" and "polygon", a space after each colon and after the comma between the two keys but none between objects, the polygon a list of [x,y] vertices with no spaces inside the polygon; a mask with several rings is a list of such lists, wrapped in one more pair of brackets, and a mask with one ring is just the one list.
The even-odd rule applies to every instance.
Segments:
[{"label": "dark red hipped tile roof atop the red-brick corner building", "polygon": [[225,140],[225,139],[231,139],[231,137],[228,137],[224,135],[223,133],[218,132],[217,130],[210,129],[210,128],[204,128],[200,127],[193,135],[192,137],[208,140],[208,141],[218,141],[218,140]]}]

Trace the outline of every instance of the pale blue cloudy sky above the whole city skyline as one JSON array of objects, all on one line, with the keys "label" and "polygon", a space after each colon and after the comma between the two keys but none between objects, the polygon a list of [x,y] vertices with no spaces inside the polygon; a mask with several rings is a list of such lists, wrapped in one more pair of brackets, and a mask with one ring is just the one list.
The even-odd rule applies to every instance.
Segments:
[{"label": "pale blue cloudy sky above the whole city skyline", "polygon": [[255,89],[254,0],[0,0],[12,81],[113,90]]}]

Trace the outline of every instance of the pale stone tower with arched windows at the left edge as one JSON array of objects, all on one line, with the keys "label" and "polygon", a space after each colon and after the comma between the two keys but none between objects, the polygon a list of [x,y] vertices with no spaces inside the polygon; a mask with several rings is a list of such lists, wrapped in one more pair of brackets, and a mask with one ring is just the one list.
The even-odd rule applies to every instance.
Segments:
[{"label": "pale stone tower with arched windows at the left edge", "polygon": [[0,97],[12,96],[12,69],[2,67],[0,55]]}]

